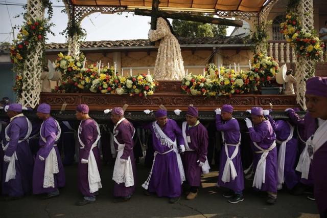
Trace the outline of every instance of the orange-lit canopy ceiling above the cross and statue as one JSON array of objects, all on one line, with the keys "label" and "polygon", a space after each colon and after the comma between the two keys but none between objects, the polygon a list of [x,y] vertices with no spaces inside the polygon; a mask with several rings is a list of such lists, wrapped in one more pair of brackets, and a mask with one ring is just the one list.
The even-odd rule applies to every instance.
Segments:
[{"label": "orange-lit canopy ceiling above the cross and statue", "polygon": [[[160,0],[161,10],[181,10],[215,12],[219,11],[242,11],[260,12],[263,6],[272,0]],[[126,7],[127,10],[135,8],[151,9],[151,0],[71,0],[75,6],[105,6]]]}]

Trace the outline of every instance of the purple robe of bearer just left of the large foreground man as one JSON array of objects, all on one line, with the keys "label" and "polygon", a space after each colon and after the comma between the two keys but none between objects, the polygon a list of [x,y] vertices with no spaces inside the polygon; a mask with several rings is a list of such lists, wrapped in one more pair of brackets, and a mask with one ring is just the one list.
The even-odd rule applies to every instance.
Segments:
[{"label": "purple robe of bearer just left of the large foreground man", "polygon": [[[301,135],[301,139],[303,141],[307,141],[309,139],[309,137],[311,137],[316,132],[316,129],[318,127],[317,121],[315,118],[311,117],[309,112],[306,114],[306,116],[304,118],[300,118],[292,110],[289,111],[288,115],[293,123],[295,123],[296,125],[298,125],[301,128],[304,128],[303,135]],[[300,154],[303,151],[303,149],[305,148],[305,146],[306,146],[305,143],[303,145],[301,145],[302,148],[300,147]],[[297,163],[295,163],[295,164],[297,164]],[[300,182],[302,184],[305,184],[308,186],[313,186],[313,175],[312,175],[311,166],[312,166],[312,164],[310,165],[310,168],[309,168],[308,179],[301,178],[301,173],[299,173]]]}]

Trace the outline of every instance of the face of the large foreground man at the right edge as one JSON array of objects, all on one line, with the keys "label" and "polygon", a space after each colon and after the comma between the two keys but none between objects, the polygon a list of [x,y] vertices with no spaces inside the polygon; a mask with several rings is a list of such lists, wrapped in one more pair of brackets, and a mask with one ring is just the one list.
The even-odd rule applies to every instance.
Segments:
[{"label": "face of the large foreground man at the right edge", "polygon": [[306,95],[306,105],[314,118],[327,120],[327,98],[317,95]]}]

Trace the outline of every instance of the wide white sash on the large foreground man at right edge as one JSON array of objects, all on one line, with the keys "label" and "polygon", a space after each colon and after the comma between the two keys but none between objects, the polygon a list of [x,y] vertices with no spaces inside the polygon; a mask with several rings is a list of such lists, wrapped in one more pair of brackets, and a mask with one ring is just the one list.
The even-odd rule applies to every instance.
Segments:
[{"label": "wide white sash on the large foreground man at right edge", "polygon": [[308,179],[311,158],[315,151],[317,151],[327,140],[326,138],[327,121],[324,121],[316,130],[314,135],[309,137],[306,142],[306,147],[303,149],[296,171],[301,172],[301,178]]}]

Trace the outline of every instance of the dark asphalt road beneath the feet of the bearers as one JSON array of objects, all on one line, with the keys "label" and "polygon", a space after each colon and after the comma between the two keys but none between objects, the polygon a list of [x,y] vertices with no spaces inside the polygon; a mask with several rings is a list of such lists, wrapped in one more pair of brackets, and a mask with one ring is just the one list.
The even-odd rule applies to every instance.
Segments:
[{"label": "dark asphalt road beneath the feet of the bearers", "polygon": [[102,166],[103,188],[94,204],[75,206],[82,199],[77,190],[77,165],[65,167],[66,186],[60,190],[57,198],[42,200],[31,195],[12,202],[0,202],[0,217],[319,217],[314,201],[306,196],[293,196],[287,191],[278,192],[277,204],[267,205],[266,195],[251,189],[251,182],[246,181],[244,201],[230,204],[222,197],[222,190],[215,186],[218,172],[202,178],[202,188],[193,201],[185,199],[176,204],[169,204],[168,198],[144,195],[142,183],[148,177],[149,168],[137,165],[138,184],[132,199],[125,203],[112,202],[113,167]]}]

